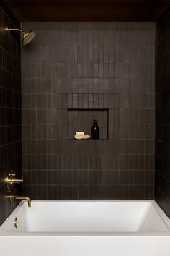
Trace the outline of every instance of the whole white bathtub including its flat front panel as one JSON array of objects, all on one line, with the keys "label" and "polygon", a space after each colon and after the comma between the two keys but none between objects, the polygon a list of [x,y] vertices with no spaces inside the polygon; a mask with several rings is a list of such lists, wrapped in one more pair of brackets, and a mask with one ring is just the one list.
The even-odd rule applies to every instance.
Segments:
[{"label": "whole white bathtub including its flat front panel", "polygon": [[0,255],[169,256],[170,220],[154,201],[21,202],[0,227]]}]

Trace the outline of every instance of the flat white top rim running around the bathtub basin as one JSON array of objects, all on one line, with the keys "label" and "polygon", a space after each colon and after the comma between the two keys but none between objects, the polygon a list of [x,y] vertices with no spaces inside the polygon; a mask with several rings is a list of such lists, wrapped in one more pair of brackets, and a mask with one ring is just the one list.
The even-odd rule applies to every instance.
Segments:
[{"label": "flat white top rim running around the bathtub basin", "polygon": [[9,221],[10,218],[14,218],[14,216],[17,214],[17,211],[19,208],[22,208],[22,205],[24,203],[27,204],[25,201],[19,202],[19,205],[17,205],[17,208],[15,208],[12,213],[9,215],[8,218],[2,223],[0,226],[0,237],[1,236],[170,236],[170,218],[166,216],[166,213],[164,213],[164,210],[160,208],[158,203],[155,200],[32,200],[32,202],[150,202],[151,205],[153,205],[153,208],[155,208],[156,212],[164,221],[165,225],[167,226],[168,231],[154,231],[154,232],[138,232],[138,231],[130,231],[130,232],[48,232],[48,231],[34,231],[34,232],[22,232],[22,231],[17,231],[17,232],[12,232],[12,231],[3,231],[4,226],[6,226],[6,223]]}]

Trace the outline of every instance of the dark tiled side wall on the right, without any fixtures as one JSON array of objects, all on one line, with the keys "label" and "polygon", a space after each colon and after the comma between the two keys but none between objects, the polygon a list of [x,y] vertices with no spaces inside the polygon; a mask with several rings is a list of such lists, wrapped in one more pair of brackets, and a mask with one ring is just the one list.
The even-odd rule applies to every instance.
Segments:
[{"label": "dark tiled side wall on the right, without any fixtures", "polygon": [[170,218],[170,9],[156,23],[156,202]]}]

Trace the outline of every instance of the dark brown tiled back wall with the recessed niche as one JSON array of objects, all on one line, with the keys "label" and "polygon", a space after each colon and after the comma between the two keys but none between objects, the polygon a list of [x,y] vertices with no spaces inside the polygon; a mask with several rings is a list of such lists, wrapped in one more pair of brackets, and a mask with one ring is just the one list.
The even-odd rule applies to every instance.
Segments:
[{"label": "dark brown tiled back wall with the recessed niche", "polygon": [[[24,195],[153,199],[155,24],[22,29],[36,30],[22,48]],[[94,117],[103,140],[73,140],[75,125],[87,132]]]}]

